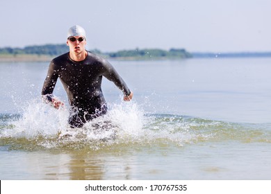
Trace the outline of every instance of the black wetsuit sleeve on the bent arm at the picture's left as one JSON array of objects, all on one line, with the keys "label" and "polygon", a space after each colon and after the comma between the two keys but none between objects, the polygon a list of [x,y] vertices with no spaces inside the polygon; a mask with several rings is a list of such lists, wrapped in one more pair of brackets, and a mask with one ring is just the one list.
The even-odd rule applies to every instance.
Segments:
[{"label": "black wetsuit sleeve on the bent arm at the picture's left", "polygon": [[58,73],[56,72],[56,67],[54,61],[52,60],[49,65],[47,77],[45,78],[42,87],[42,98],[44,100],[48,100],[49,102],[51,102],[53,98],[54,87],[56,86],[56,81],[58,80]]}]

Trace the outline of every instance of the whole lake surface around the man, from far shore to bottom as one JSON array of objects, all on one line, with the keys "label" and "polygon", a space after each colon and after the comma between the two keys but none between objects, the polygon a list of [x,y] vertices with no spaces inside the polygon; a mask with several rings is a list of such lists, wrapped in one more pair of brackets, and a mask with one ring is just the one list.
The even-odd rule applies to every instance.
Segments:
[{"label": "whole lake surface around the man, from far shore to bottom", "polygon": [[104,79],[77,130],[60,82],[64,109],[40,99],[48,62],[0,63],[0,179],[271,179],[271,58],[111,62],[134,98]]}]

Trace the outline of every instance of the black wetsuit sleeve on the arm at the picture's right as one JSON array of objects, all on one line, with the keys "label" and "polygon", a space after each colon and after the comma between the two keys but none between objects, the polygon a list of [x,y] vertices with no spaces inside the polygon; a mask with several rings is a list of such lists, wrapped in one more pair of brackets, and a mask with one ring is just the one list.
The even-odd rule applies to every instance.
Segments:
[{"label": "black wetsuit sleeve on the arm at the picture's right", "polygon": [[122,90],[123,94],[125,96],[129,96],[131,94],[131,91],[127,87],[126,83],[120,75],[117,73],[117,71],[114,69],[114,67],[106,60],[103,61],[104,65],[104,72],[103,76],[106,77],[108,80],[115,83],[115,85]]}]

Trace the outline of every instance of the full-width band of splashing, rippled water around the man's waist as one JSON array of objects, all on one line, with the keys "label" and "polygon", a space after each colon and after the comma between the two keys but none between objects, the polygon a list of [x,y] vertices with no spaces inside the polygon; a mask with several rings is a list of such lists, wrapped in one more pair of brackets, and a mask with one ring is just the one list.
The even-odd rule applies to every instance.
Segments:
[{"label": "full-width band of splashing, rippled water around the man's waist", "polygon": [[[208,141],[271,143],[270,130],[170,114],[147,114],[134,102],[108,105],[108,114],[82,128],[70,128],[68,108],[54,109],[32,99],[22,114],[1,115],[0,145],[10,149],[108,149],[112,146],[183,146]],[[268,127],[270,129],[270,127]]]}]

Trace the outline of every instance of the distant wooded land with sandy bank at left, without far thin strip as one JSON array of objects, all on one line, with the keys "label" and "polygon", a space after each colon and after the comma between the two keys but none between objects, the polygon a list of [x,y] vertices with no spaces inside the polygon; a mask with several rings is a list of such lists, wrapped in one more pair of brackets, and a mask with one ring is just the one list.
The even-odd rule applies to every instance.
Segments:
[{"label": "distant wooded land with sandy bank at left, without far thin strip", "polygon": [[[41,46],[26,46],[24,48],[0,48],[0,61],[31,60],[44,61],[52,59],[63,53],[67,53],[69,47],[66,44],[45,44]],[[171,48],[165,51],[158,48],[135,48],[133,50],[122,50],[117,52],[101,52],[97,49],[92,52],[103,55],[105,58],[116,60],[158,60],[158,59],[183,59],[192,58],[183,48]]]}]

